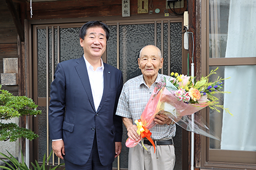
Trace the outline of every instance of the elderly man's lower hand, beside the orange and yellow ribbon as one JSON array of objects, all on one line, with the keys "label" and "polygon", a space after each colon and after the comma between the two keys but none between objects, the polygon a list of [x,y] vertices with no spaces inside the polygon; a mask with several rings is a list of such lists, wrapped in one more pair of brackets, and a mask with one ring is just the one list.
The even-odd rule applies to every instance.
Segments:
[{"label": "elderly man's lower hand, beside the orange and yellow ribbon", "polygon": [[127,129],[127,135],[129,138],[132,140],[139,141],[140,140],[140,135],[137,133],[137,126],[133,125],[133,120],[130,118],[122,117],[123,119],[123,124]]}]

